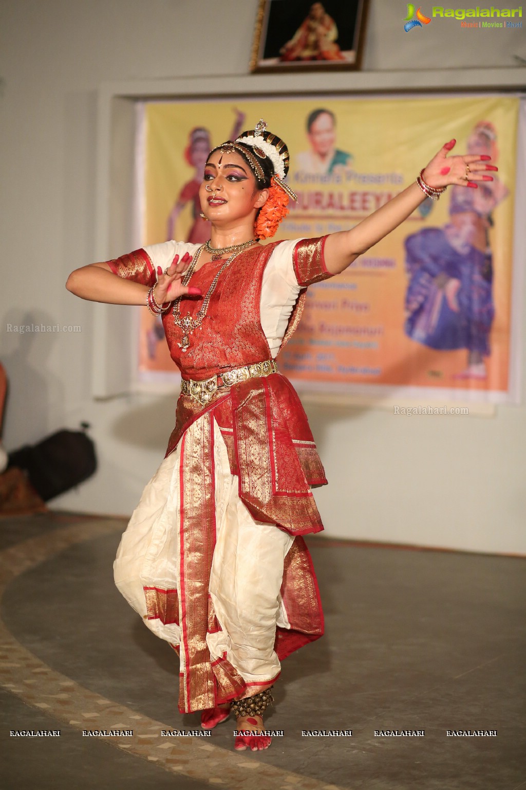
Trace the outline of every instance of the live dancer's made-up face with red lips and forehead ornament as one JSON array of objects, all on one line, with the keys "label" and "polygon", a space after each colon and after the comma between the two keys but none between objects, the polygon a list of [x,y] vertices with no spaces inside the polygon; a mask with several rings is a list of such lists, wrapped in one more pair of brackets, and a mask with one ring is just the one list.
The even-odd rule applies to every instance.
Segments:
[{"label": "live dancer's made-up face with red lips and forehead ornament", "polygon": [[[215,190],[215,198],[207,190]],[[260,209],[268,190],[259,190],[248,164],[238,153],[213,152],[204,168],[199,196],[203,212],[212,221],[241,220]]]}]

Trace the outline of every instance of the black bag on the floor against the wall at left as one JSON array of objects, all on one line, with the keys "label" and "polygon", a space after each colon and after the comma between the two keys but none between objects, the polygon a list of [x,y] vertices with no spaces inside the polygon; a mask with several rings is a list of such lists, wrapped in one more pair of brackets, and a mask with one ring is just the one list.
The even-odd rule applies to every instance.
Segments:
[{"label": "black bag on the floor against the wall at left", "polygon": [[36,445],[9,453],[9,465],[28,473],[29,481],[44,502],[88,480],[97,468],[95,445],[84,432],[63,429]]}]

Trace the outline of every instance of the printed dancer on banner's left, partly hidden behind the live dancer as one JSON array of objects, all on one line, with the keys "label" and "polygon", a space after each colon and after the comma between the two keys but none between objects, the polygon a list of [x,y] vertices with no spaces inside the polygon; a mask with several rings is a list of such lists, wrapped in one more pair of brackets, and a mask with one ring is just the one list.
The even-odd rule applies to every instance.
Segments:
[{"label": "printed dancer on banner's left, partly hidden behind the live dancer", "polygon": [[[234,107],[236,119],[234,121],[230,139],[235,140],[237,135],[241,132],[244,124],[244,112],[241,112]],[[177,200],[173,204],[173,209],[168,217],[168,227],[166,240],[170,241],[176,235],[175,228],[177,220],[185,205],[192,201],[192,228],[188,232],[186,241],[189,244],[203,244],[210,239],[211,224],[208,220],[203,220],[200,217],[201,204],[199,199],[199,188],[203,181],[204,166],[207,164],[208,152],[212,148],[211,134],[204,128],[204,126],[194,126],[188,134],[188,145],[185,148],[185,160],[189,165],[194,167],[193,178],[185,183],[181,192],[177,196]],[[150,359],[155,359],[157,352],[157,345],[159,340],[164,340],[164,329],[162,329],[162,321],[159,316],[153,319],[150,329],[146,333],[147,351]]]}]

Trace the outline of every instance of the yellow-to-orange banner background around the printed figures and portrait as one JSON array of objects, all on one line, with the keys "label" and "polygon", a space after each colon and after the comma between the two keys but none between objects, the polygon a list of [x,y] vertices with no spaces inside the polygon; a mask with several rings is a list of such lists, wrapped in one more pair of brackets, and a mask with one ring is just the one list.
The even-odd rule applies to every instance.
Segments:
[{"label": "yellow-to-orange banner background around the printed figures and portrait", "polygon": [[[330,176],[305,169],[311,152],[305,124],[316,108],[334,113],[336,147],[349,155],[341,155],[346,164],[334,167]],[[491,123],[497,135],[494,164],[508,192],[491,213],[495,314],[491,353],[485,359],[487,378],[457,378],[467,365],[465,348],[428,348],[408,337],[404,329],[408,287],[405,239],[422,228],[443,228],[450,222],[451,190],[432,204],[427,216],[415,212],[345,273],[311,286],[304,318],[279,361],[282,372],[305,385],[311,382],[314,388],[323,384],[352,392],[353,385],[373,384],[505,393],[518,99],[460,96],[146,103],[144,245],[166,241],[174,202],[196,175],[196,168],[185,159],[190,131],[203,127],[211,145],[218,145],[229,139],[238,113],[245,115],[241,130],[253,128],[263,117],[267,128],[289,146],[287,180],[299,201],[297,206],[291,203],[276,239],[319,236],[353,227],[408,186],[444,142],[455,137],[454,152],[467,152],[476,125]],[[192,201],[187,201],[173,237],[187,240],[194,222]],[[146,310],[142,313],[140,371],[175,372],[166,342],[153,340],[154,319]],[[158,339],[159,335],[158,330]]]}]

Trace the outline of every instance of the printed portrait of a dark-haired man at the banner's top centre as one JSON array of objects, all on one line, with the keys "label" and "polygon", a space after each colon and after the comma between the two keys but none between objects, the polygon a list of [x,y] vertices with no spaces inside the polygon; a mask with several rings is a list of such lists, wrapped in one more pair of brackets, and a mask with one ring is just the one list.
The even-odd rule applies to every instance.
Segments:
[{"label": "printed portrait of a dark-haired man at the banner's top centre", "polygon": [[297,155],[297,170],[306,173],[331,175],[349,167],[353,154],[336,148],[336,116],[334,112],[318,107],[306,122],[310,151]]}]

